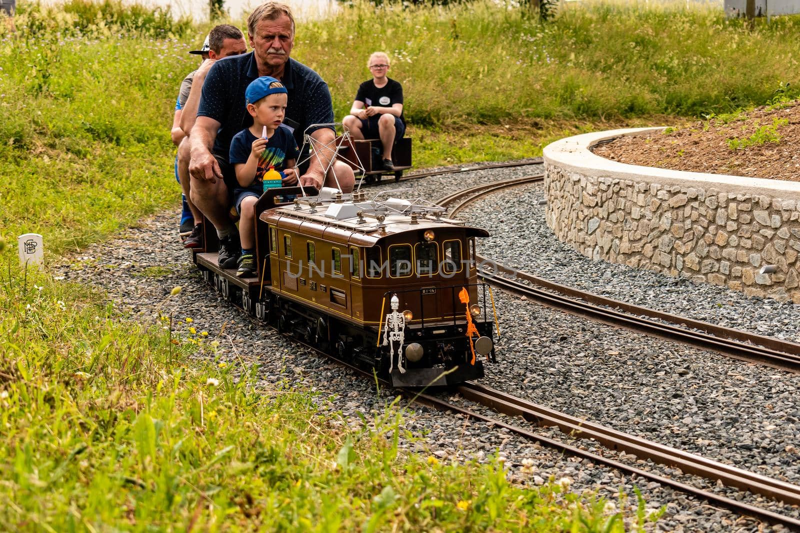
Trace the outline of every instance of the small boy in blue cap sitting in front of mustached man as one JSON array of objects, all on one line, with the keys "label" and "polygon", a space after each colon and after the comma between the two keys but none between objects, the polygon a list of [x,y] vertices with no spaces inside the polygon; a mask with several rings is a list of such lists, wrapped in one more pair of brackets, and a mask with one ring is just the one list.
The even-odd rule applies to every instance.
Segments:
[{"label": "small boy in blue cap sitting in front of mustached man", "polygon": [[253,125],[242,129],[230,141],[230,164],[234,165],[240,188],[234,189],[234,205],[239,213],[239,238],[242,257],[236,275],[256,275],[255,203],[264,189],[264,174],[274,169],[283,179],[296,176],[294,163],[298,145],[289,128],[282,125],[288,93],[275,78],[262,76],[247,86],[245,103]]}]

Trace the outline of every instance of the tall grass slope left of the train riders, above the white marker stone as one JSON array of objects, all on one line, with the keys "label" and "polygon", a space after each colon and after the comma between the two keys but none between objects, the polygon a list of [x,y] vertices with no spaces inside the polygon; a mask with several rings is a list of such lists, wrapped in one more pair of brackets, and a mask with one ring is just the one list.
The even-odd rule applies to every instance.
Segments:
[{"label": "tall grass slope left of the train riders, above the white marker stone", "polygon": [[22,3],[14,32],[0,23],[5,237],[46,233],[58,254],[178,198],[165,194],[177,190],[169,125],[196,58],[185,21],[143,9]]}]

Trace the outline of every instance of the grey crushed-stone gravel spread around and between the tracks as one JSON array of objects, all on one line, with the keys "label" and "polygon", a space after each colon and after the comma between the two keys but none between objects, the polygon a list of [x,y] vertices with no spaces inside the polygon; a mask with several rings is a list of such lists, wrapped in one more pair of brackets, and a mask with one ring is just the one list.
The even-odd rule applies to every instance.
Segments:
[{"label": "grey crushed-stone gravel spread around and between the tracks", "polygon": [[[476,170],[399,185],[410,185],[420,196],[436,200],[470,185],[537,173],[541,168]],[[370,190],[397,187],[391,183]],[[535,205],[541,197],[540,185],[497,193],[459,218],[488,229],[492,237],[479,244],[479,252],[506,265],[700,320],[716,316],[720,323],[728,320],[726,325],[786,334],[786,328],[775,321],[783,313],[796,312],[790,305],[750,300],[720,288],[578,255],[550,234],[544,224],[544,206]],[[341,412],[341,424],[358,426],[362,424],[358,413],[369,419],[370,413],[383,412],[394,398],[391,392],[376,392],[370,380],[354,380],[329,360],[260,328],[255,320],[222,302],[190,264],[190,253],[178,244],[177,213],[142,221],[118,241],[88,249],[68,263],[58,268],[57,275],[105,289],[119,308],[142,321],[154,320],[157,306],[170,289],[182,285],[181,294],[169,301],[172,310],[176,316],[191,316],[198,331],[205,329],[211,336],[225,324],[219,347],[223,359],[234,361],[235,352],[246,363],[258,361],[265,387],[288,381],[318,392],[322,411],[332,416]],[[796,376],[593,324],[499,291],[494,295],[503,335],[498,364],[486,365],[486,384],[621,431],[800,483],[798,451],[786,451],[800,442]],[[786,316],[787,327],[791,321],[798,324],[800,316]],[[786,334],[790,340],[800,340],[797,336],[796,329]],[[486,424],[416,406],[410,408],[404,424],[414,435],[424,435],[418,440],[403,439],[406,449],[458,460],[498,453],[506,458],[510,477],[520,483],[566,476],[573,480],[574,490],[599,490],[611,499],[620,486],[632,495],[635,484],[649,507],[666,505],[666,515],[658,525],[665,531],[758,531],[759,523],[752,519],[707,506],[657,483],[632,481],[606,467],[564,457]],[[548,432],[563,438],[558,432]],[[757,501],[752,495],[742,497]],[[797,515],[796,509],[782,512]]]}]

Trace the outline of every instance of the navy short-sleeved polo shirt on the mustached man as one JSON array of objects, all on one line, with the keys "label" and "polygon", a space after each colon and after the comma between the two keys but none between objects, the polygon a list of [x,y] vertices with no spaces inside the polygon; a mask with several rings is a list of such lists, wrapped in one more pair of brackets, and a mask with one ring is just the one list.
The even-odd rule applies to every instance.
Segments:
[{"label": "navy short-sleeved polo shirt on the mustached man", "polygon": [[[258,78],[258,66],[250,52],[220,59],[208,71],[203,83],[198,117],[210,117],[220,123],[214,153],[225,161],[234,135],[253,124],[253,117],[245,107],[245,89],[255,78]],[[330,90],[319,74],[292,58],[286,62],[281,82],[289,93],[283,122],[294,128],[294,140],[302,146],[303,133],[309,125],[334,121]]]}]

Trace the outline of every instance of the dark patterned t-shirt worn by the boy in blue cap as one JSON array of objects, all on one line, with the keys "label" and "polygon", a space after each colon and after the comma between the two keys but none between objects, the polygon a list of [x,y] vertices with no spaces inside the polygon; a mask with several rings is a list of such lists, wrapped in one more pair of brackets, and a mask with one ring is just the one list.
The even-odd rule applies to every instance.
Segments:
[{"label": "dark patterned t-shirt worn by the boy in blue cap", "polygon": [[[234,135],[234,139],[230,141],[230,164],[237,165],[246,163],[250,158],[250,152],[253,150],[253,143],[258,139],[250,129],[242,129],[239,133]],[[281,171],[286,168],[286,162],[294,159],[297,161],[300,150],[297,143],[294,141],[294,136],[291,130],[284,125],[278,126],[275,133],[266,142],[266,148],[258,159],[258,168],[256,169],[254,181],[249,187],[239,188],[252,189],[253,192],[261,194],[264,189],[264,173],[271,167],[275,170]]]}]

